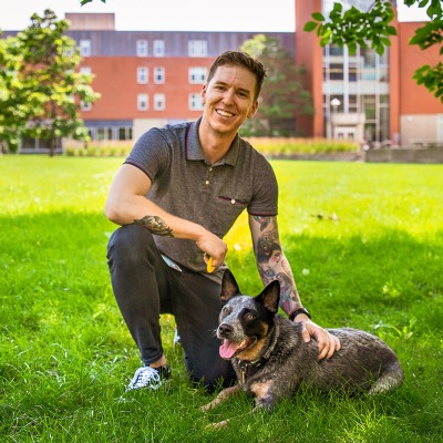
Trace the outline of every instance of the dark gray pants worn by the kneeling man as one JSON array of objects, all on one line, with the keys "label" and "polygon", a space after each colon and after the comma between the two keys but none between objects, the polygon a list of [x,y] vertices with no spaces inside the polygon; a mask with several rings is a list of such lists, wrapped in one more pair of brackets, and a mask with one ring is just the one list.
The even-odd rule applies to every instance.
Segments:
[{"label": "dark gray pants worn by the kneeling man", "polygon": [[152,234],[126,225],[110,238],[107,260],[119,308],[145,364],[163,354],[159,315],[175,316],[185,364],[194,381],[208,389],[231,384],[235,372],[218,354],[215,337],[220,287],[198,272],[165,264]]}]

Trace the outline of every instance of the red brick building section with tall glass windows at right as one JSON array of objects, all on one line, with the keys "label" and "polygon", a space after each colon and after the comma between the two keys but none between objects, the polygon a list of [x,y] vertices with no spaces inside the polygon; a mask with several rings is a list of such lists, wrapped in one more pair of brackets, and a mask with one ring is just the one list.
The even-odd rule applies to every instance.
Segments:
[{"label": "red brick building section with tall glass windows at right", "polygon": [[[392,141],[409,146],[443,143],[443,105],[412,79],[423,64],[439,60],[439,49],[421,51],[410,45],[415,29],[423,23],[398,22],[398,37],[390,49],[378,55],[358,49],[350,55],[344,48],[321,49],[315,32],[302,32],[313,11],[328,12],[333,0],[296,0],[296,63],[308,69],[306,87],[312,93],[316,115],[298,124],[311,136],[356,138],[367,142]],[[368,10],[370,0],[346,0]]]}]

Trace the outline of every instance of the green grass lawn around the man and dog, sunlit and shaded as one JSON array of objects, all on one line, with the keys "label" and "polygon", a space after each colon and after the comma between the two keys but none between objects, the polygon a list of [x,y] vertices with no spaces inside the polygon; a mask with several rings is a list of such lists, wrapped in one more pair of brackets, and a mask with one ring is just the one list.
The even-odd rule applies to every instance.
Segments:
[{"label": "green grass lawn around the man and dog, sunlit and shaded", "polygon": [[[0,441],[441,442],[443,165],[274,161],[280,235],[305,305],[323,327],[357,327],[399,354],[402,388],[377,398],[300,392],[271,415],[193,388],[174,321],[173,381],[124,393],[138,352],[115,305],[103,215],[122,158],[0,157]],[[246,217],[227,236],[244,291],[261,288]]]}]

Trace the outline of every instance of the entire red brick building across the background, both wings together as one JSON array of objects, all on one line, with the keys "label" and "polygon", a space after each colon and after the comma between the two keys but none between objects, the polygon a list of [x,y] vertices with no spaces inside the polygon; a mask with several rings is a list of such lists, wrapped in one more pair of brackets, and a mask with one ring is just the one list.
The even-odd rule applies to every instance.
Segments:
[{"label": "entire red brick building across the background, both wings together", "polygon": [[[443,142],[442,103],[412,79],[415,69],[439,58],[436,49],[409,45],[422,23],[395,21],[398,37],[381,56],[370,49],[350,55],[347,49],[320,48],[316,33],[302,31],[311,13],[327,12],[332,0],[295,2],[297,31],[266,34],[308,70],[305,87],[316,113],[297,119],[300,133],[403,146]],[[365,9],[371,1],[342,3]],[[102,95],[82,109],[95,141],[135,140],[152,126],[197,119],[210,63],[259,33],[116,31],[113,13],[68,13],[66,19],[83,56],[80,69],[94,75],[93,89]]]}]

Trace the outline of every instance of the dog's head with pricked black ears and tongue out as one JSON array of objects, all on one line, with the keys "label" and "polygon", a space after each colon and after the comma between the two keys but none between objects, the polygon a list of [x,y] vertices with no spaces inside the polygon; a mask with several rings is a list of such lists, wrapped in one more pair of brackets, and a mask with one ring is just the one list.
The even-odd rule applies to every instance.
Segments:
[{"label": "dog's head with pricked black ears and tongue out", "polygon": [[270,282],[257,297],[240,293],[237,281],[227,269],[222,282],[224,303],[217,338],[222,339],[220,357],[255,361],[274,328],[274,316],[280,300],[280,284]]}]

